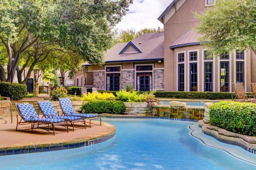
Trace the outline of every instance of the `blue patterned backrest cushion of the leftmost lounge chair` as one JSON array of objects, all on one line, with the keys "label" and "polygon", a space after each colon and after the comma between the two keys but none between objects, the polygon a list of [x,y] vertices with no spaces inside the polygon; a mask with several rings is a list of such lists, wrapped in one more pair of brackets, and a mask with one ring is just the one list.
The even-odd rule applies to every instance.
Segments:
[{"label": "blue patterned backrest cushion of the leftmost lounge chair", "polygon": [[40,119],[33,105],[20,103],[17,106],[21,113],[21,117],[24,119],[25,122],[31,121],[32,116],[33,116],[33,119]]}]

